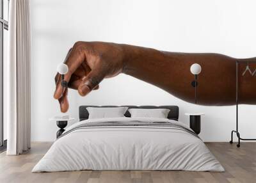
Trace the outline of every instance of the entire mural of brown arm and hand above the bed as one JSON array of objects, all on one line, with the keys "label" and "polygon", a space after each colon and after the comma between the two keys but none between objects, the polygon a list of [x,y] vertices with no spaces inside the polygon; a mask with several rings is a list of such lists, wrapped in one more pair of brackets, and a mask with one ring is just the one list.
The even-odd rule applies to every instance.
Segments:
[{"label": "entire mural of brown arm and hand above the bed", "polygon": [[[190,67],[193,63],[198,63],[202,72],[197,78],[197,104],[234,105],[237,60],[246,63],[255,61],[256,58],[237,59],[214,53],[166,52],[134,45],[76,42],[65,58],[68,72],[63,79],[68,87],[63,90],[61,75],[57,74],[54,98],[59,100],[61,111],[66,112],[68,88],[85,96],[92,90],[98,90],[99,83],[104,78],[124,73],[154,84],[179,99],[194,103],[195,88],[191,86],[194,75],[191,74]],[[247,66],[242,64],[238,68],[239,103],[256,104],[256,72],[253,73],[256,64],[250,63],[250,70],[246,69],[249,68]]]}]

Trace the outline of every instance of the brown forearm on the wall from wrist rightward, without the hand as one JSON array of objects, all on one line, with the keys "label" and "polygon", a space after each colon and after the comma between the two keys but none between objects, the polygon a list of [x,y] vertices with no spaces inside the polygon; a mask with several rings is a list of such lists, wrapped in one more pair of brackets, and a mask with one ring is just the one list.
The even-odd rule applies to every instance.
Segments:
[{"label": "brown forearm on the wall from wrist rightward, without the hand", "polygon": [[[198,104],[226,106],[236,103],[236,58],[221,54],[163,52],[144,47],[123,45],[124,74],[154,84],[188,102],[195,101],[194,80],[190,67],[202,66],[198,77]],[[244,68],[244,67],[243,67]],[[241,103],[256,103],[255,84],[245,86]]]}]

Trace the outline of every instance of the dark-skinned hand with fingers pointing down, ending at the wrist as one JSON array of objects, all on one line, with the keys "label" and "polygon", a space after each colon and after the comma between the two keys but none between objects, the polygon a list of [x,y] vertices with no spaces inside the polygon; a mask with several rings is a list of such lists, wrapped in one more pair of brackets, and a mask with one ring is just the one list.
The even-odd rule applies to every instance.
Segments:
[{"label": "dark-skinned hand with fingers pointing down, ending at the wrist", "polygon": [[[77,90],[85,96],[99,88],[99,83],[106,77],[113,77],[122,72],[124,52],[122,46],[104,42],[76,42],[68,51],[64,63],[68,72],[64,80],[68,88]],[[61,75],[55,76],[56,90],[54,99],[58,99],[61,112],[68,110],[68,88],[62,96]],[[63,102],[62,101],[63,98]]]}]

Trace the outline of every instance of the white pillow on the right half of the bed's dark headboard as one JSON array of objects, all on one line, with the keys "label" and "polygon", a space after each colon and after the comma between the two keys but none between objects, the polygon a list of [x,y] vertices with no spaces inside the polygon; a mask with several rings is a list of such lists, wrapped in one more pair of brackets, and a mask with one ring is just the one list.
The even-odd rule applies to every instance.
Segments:
[{"label": "white pillow on the right half of the bed's dark headboard", "polygon": [[167,118],[170,109],[129,109],[132,118]]}]

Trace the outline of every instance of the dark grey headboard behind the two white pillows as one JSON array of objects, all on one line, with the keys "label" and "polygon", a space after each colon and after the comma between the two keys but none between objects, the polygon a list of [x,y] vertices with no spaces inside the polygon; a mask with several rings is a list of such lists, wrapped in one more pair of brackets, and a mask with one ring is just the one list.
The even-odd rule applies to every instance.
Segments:
[{"label": "dark grey headboard behind the two white pillows", "polygon": [[[79,121],[87,120],[89,117],[89,113],[86,107],[118,107],[118,106],[79,106]],[[122,106],[123,107],[123,106]],[[170,120],[179,120],[179,107],[178,106],[125,106],[129,108],[140,108],[140,109],[170,109],[168,114],[168,119]],[[126,117],[131,117],[129,111],[124,114]]]}]

